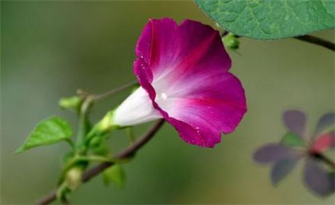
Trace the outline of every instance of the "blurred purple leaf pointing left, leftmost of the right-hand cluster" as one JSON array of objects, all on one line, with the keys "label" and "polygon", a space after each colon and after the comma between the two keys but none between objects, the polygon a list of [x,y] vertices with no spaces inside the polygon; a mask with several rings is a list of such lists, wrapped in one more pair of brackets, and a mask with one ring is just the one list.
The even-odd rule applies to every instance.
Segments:
[{"label": "blurred purple leaf pointing left, leftmost of the right-hand cluster", "polygon": [[269,162],[278,162],[279,160],[297,158],[301,156],[301,153],[296,150],[292,150],[288,146],[283,146],[278,143],[269,143],[258,148],[258,150],[256,150],[253,154],[253,159],[260,164],[266,164]]}]

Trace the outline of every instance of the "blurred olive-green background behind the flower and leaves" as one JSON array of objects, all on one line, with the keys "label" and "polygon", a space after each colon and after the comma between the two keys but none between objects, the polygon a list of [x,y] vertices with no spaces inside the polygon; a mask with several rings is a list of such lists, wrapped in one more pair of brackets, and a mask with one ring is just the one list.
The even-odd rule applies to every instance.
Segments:
[{"label": "blurred olive-green background behind the flower and leaves", "polygon": [[[135,43],[149,17],[186,18],[215,24],[192,1],[1,1],[1,204],[32,204],[55,188],[66,143],[14,155],[36,123],[50,115],[68,118],[60,97],[77,88],[99,93],[135,77]],[[334,41],[334,30],[315,33]],[[277,188],[269,167],[253,151],[285,134],[283,111],[300,108],[313,129],[334,111],[334,52],[295,39],[241,38],[230,52],[243,83],[248,113],[236,132],[214,149],[191,146],[166,124],[135,160],[125,165],[124,190],[105,187],[101,177],[72,195],[73,204],[331,204],[308,192],[297,169]],[[127,93],[99,103],[98,120]],[[140,126],[141,133],[149,125]],[[123,131],[110,139],[127,145]]]}]

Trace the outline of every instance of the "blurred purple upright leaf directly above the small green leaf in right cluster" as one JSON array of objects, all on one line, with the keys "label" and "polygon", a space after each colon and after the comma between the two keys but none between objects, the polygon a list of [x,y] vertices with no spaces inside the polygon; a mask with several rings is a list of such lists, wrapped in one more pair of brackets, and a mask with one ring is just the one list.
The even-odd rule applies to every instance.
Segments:
[{"label": "blurred purple upright leaf directly above the small green leaf in right cluster", "polygon": [[295,110],[286,111],[283,115],[283,121],[290,131],[300,137],[304,136],[306,127],[306,115],[304,113]]}]

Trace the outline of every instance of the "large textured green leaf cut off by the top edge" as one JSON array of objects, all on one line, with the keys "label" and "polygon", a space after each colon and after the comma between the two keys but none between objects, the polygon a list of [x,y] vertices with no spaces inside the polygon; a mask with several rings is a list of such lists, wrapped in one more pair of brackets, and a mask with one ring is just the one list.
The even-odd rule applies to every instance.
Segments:
[{"label": "large textured green leaf cut off by the top edge", "polygon": [[200,9],[239,36],[276,39],[335,27],[334,0],[195,0]]}]

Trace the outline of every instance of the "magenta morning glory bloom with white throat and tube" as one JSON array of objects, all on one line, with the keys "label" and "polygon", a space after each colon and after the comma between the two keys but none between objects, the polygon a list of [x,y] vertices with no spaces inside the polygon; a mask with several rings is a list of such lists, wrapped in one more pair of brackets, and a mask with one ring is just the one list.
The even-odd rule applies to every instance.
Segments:
[{"label": "magenta morning glory bloom with white throat and tube", "polygon": [[119,127],[164,118],[181,139],[214,147],[246,113],[244,89],[218,31],[200,22],[151,19],[135,49],[140,87],[113,113]]}]

